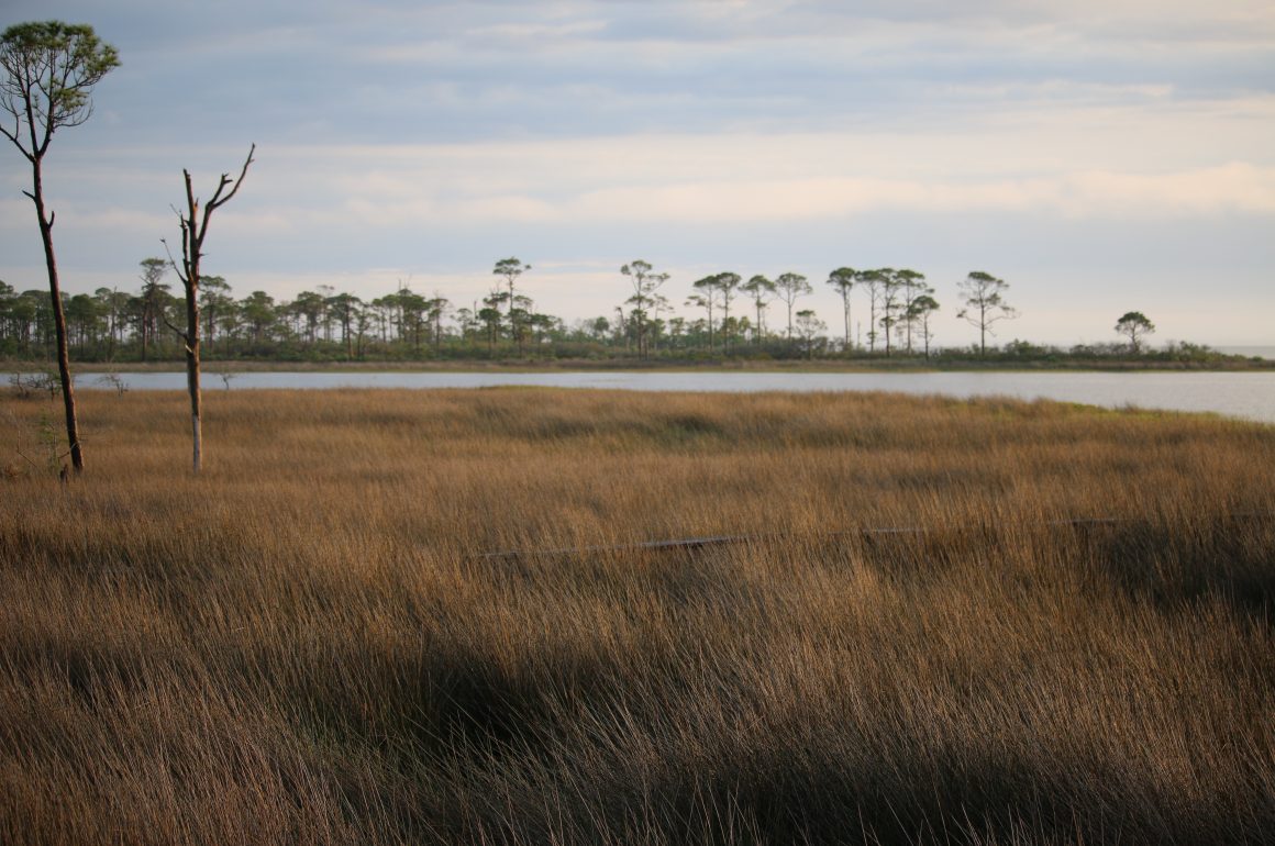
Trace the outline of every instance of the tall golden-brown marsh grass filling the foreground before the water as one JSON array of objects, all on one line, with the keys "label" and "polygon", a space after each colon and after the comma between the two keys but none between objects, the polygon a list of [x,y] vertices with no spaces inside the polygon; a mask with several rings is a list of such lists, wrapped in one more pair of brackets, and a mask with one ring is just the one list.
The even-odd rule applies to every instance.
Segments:
[{"label": "tall golden-brown marsh grass filling the foreground before the water", "polygon": [[1275,831],[1272,427],[215,391],[194,478],[182,395],[80,403],[61,484],[0,399],[0,842]]}]

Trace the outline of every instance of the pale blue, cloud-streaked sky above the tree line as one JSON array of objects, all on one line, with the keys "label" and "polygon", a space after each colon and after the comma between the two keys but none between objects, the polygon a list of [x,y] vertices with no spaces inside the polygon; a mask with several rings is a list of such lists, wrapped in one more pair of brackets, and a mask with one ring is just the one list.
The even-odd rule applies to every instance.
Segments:
[{"label": "pale blue, cloud-streaked sky above the tree line", "polygon": [[[978,340],[970,271],[1020,312],[997,343],[1113,343],[1141,311],[1159,343],[1275,345],[1271,0],[0,0],[45,19],[121,60],[46,159],[70,293],[135,290],[182,169],[207,199],[256,144],[205,243],[238,297],[470,307],[516,256],[570,322],[640,259],[685,316],[705,275],[803,274],[839,338],[829,273],[892,266],[945,347]],[[3,143],[0,280],[47,288]]]}]

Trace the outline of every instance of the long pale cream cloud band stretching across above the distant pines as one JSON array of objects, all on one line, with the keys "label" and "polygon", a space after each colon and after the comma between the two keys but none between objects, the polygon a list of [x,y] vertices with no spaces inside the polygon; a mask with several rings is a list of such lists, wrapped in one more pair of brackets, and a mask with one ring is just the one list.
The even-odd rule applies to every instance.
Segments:
[{"label": "long pale cream cloud band stretching across above the distant pines", "polygon": [[[1265,120],[1271,107],[1266,101],[1235,106],[1213,120],[1197,110],[1165,110],[1141,120],[1105,107],[1051,111],[1039,120],[996,118],[940,138],[718,134],[265,148],[245,190],[214,222],[214,237],[268,248],[277,237],[362,237],[374,243],[423,227],[711,227],[877,213],[1126,222],[1270,215],[1275,161],[1269,152],[1244,144],[1225,150],[1215,139],[1255,113]],[[1096,133],[1099,125],[1103,131]],[[1144,147],[1146,136],[1164,141]],[[194,158],[233,162],[240,155],[238,149],[210,150]],[[83,196],[59,199],[60,222],[172,237],[168,206],[180,199],[180,168],[164,180],[145,178],[150,162],[145,150],[134,149],[111,159],[107,171],[97,163],[61,173],[60,186],[78,186]],[[111,180],[135,180],[150,199],[122,205]],[[204,167],[196,185],[210,190],[215,176]],[[8,200],[6,218],[26,219],[20,205]],[[321,254],[326,246],[315,248]]]}]

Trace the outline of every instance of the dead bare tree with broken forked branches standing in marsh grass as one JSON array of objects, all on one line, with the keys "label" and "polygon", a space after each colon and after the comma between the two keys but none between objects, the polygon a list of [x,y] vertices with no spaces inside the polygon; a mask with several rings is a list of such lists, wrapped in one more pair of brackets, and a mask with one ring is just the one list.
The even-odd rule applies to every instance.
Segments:
[{"label": "dead bare tree with broken forked branches standing in marsh grass", "polygon": [[231,197],[238,194],[240,186],[244,185],[244,177],[247,176],[247,168],[252,164],[252,153],[255,152],[256,144],[249,149],[237,180],[232,180],[229,173],[222,173],[213,199],[203,209],[200,209],[199,199],[195,196],[190,171],[185,168],[181,171],[186,181],[186,209],[177,213],[177,218],[181,220],[181,265],[177,265],[171,254],[168,259],[186,289],[186,329],[182,331],[176,326],[171,327],[186,345],[186,390],[190,392],[190,432],[194,442],[196,474],[203,468],[204,441],[199,387],[199,261],[204,257],[204,238],[208,237],[208,223],[213,218],[213,212],[229,203]]}]

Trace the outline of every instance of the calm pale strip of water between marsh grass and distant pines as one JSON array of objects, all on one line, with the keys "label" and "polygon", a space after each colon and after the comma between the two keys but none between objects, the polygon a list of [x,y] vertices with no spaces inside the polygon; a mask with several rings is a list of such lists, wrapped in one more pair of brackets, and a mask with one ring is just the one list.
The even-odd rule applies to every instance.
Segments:
[{"label": "calm pale strip of water between marsh grass and distant pines", "polygon": [[[184,373],[120,373],[130,390],[182,390]],[[93,375],[80,389],[110,390]],[[1275,373],[778,373],[778,372],[546,372],[546,373],[237,373],[229,390],[338,387],[548,387],[626,391],[895,391],[955,398],[1010,396],[1084,403],[1103,408],[1137,406],[1174,412],[1214,412],[1275,423]],[[204,390],[219,391],[217,373],[204,375]]]}]

